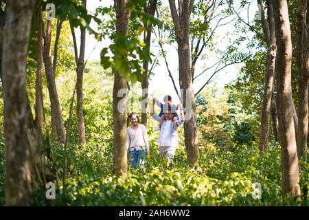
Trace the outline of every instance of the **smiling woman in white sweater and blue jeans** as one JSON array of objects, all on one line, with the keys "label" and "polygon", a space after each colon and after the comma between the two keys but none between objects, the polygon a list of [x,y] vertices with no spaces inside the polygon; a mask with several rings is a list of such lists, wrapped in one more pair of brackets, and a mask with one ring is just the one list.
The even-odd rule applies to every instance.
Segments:
[{"label": "smiling woman in white sweater and blue jeans", "polygon": [[130,113],[129,119],[131,126],[126,129],[126,148],[130,151],[130,160],[133,168],[137,164],[140,168],[145,169],[145,155],[150,155],[148,135],[144,124],[139,124],[137,113]]}]

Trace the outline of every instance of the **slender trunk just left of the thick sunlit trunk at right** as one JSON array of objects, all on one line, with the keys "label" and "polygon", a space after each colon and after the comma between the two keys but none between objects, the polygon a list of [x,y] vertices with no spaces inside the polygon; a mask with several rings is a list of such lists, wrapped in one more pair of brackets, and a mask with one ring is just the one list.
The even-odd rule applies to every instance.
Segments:
[{"label": "slender trunk just left of the thick sunlit trunk at right", "polygon": [[[264,9],[263,1],[258,1]],[[266,151],[269,135],[269,122],[271,118],[271,96],[273,93],[273,80],[275,78],[275,57],[276,57],[276,41],[275,41],[275,27],[273,18],[273,5],[268,1],[268,19],[267,22],[264,14],[262,14],[262,25],[266,39],[268,39],[268,55],[266,65],[266,78],[264,88],[264,98],[262,103],[262,116],[260,126],[260,144],[259,149],[262,152]]]}]

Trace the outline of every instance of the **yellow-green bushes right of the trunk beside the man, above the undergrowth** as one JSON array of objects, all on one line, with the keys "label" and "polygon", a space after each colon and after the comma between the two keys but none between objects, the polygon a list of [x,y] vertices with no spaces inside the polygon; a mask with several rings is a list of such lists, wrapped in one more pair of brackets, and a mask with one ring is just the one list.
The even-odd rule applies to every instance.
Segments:
[{"label": "yellow-green bushes right of the trunk beside the man, above the undergrowth", "polygon": [[[231,96],[236,100],[232,100]],[[220,93],[216,85],[208,85],[205,91],[196,96],[201,150],[231,150],[256,139],[254,118],[244,113],[238,102],[240,100],[238,96],[233,96],[233,91],[226,89]]]}]

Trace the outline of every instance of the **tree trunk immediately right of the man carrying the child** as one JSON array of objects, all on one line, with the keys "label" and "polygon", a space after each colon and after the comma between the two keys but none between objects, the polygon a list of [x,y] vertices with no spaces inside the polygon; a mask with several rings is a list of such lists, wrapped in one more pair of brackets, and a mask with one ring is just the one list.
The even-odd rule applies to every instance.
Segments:
[{"label": "tree trunk immediately right of the man carrying the child", "polygon": [[[185,148],[187,150],[187,164],[194,166],[198,163],[198,133],[196,127],[196,104],[192,87],[192,74],[190,72],[190,44],[189,44],[189,21],[194,0],[179,1],[177,12],[175,0],[169,0],[170,10],[175,28],[175,37],[178,44],[179,54],[179,81],[183,89],[183,107],[190,119],[185,120]],[[187,97],[188,96],[188,97]],[[190,104],[187,103],[190,101]]]}]

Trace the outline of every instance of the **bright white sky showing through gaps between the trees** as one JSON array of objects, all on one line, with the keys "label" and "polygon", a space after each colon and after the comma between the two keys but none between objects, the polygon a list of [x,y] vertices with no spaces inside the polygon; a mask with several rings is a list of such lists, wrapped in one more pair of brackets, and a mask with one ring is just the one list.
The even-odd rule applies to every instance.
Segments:
[{"label": "bright white sky showing through gaps between the trees", "polygon": [[[163,1],[164,3],[168,4],[168,1]],[[87,10],[89,12],[95,12],[95,9],[99,6],[109,6],[113,5],[112,0],[91,0],[87,1]],[[250,7],[249,7],[249,20],[252,21],[253,17],[255,16],[256,12],[258,11],[258,6],[256,5],[255,1],[252,1]],[[248,19],[247,10],[244,10],[240,16],[247,21]],[[228,20],[227,20],[228,21]],[[91,22],[91,28],[96,30],[95,23]],[[233,33],[233,23],[229,25],[222,26],[218,28],[216,31],[217,36],[217,45],[216,47],[220,50],[225,49],[230,43],[228,42],[227,36],[231,37],[231,34]],[[78,32],[78,30],[77,30]],[[252,34],[248,33],[249,38],[251,38]],[[79,33],[77,34],[79,36]],[[152,34],[152,38],[155,39],[154,34]],[[233,36],[231,37],[233,39]],[[87,33],[87,43],[86,43],[86,54],[85,57],[89,60],[98,60],[100,59],[100,52],[103,47],[108,47],[108,45],[111,43],[111,41],[103,40],[102,42],[98,42],[94,39],[93,36],[89,36]],[[176,51],[176,44],[175,45],[164,45],[164,50],[167,52],[167,60],[168,64],[170,66],[170,70],[172,71],[172,74],[174,76],[174,80],[178,85],[178,54]],[[159,47],[157,45],[152,45],[150,50],[157,54],[159,51]],[[212,57],[211,60],[205,60],[205,61],[198,61],[197,67],[196,67],[196,75],[201,73],[203,71],[203,67],[206,65],[207,67],[211,66],[212,64],[216,63],[216,54],[209,54],[209,57]],[[151,65],[150,65],[151,66]],[[225,84],[231,82],[231,80],[235,80],[238,74],[239,68],[242,66],[242,64],[239,65],[231,65],[225,69],[222,69],[222,71],[218,72],[216,74],[216,77],[214,78],[214,82],[218,85],[219,89],[222,89]],[[210,69],[209,72],[206,72],[203,77],[199,78],[198,82],[194,83],[194,92],[198,91],[198,89],[201,88],[201,86],[206,82],[206,80],[211,76],[214,69]],[[157,97],[159,99],[163,99],[163,96],[165,94],[170,94],[173,98],[176,98],[176,93],[174,91],[174,87],[172,85],[172,80],[170,80],[170,77],[168,76],[168,71],[165,66],[165,62],[163,58],[159,58],[159,65],[153,69],[155,73],[155,76],[152,76],[150,80],[149,85],[149,91],[150,91],[150,97]],[[174,99],[175,100],[175,99]]]}]

